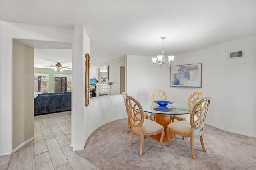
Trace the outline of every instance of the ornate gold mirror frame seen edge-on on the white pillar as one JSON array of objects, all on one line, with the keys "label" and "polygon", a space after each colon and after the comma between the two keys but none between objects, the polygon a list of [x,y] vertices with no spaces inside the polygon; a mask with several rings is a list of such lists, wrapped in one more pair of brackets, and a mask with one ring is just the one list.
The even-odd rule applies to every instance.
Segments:
[{"label": "ornate gold mirror frame seen edge-on on the white pillar", "polygon": [[85,55],[85,106],[89,105],[89,98],[90,98],[90,56],[89,54]]}]

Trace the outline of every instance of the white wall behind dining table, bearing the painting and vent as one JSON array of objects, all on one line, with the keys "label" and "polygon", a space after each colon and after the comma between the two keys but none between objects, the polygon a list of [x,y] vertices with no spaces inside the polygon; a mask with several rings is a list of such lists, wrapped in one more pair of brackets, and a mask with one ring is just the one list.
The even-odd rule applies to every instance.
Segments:
[{"label": "white wall behind dining table, bearing the painting and vent", "polygon": [[[228,59],[229,51],[241,49],[244,58]],[[164,90],[169,100],[186,103],[201,91],[212,98],[208,124],[256,137],[256,36],[177,54],[173,65],[195,63],[202,63],[202,88],[170,87],[170,68],[154,68],[149,56],[127,55],[127,92],[146,101],[155,90]]]}]

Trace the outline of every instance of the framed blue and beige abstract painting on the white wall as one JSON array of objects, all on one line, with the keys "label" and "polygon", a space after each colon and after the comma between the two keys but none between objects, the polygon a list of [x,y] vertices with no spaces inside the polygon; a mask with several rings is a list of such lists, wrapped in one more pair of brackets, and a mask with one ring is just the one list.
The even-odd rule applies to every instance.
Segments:
[{"label": "framed blue and beige abstract painting on the white wall", "polygon": [[171,66],[171,87],[202,87],[202,63]]}]

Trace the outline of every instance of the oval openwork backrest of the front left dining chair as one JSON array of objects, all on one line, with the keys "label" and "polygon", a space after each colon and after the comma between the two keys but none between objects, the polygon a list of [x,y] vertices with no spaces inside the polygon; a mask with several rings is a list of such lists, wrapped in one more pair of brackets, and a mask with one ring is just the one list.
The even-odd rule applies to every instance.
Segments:
[{"label": "oval openwork backrest of the front left dining chair", "polygon": [[[128,112],[132,127],[142,127],[144,122],[144,111],[140,103],[132,96],[126,96]],[[135,109],[137,107],[137,109]]]}]

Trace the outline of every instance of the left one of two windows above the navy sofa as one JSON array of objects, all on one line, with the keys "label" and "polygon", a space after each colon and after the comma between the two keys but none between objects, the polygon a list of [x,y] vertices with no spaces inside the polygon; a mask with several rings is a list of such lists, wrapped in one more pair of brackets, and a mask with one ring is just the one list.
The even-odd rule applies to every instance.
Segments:
[{"label": "left one of two windows above the navy sofa", "polygon": [[34,91],[48,92],[48,74],[34,74]]}]

